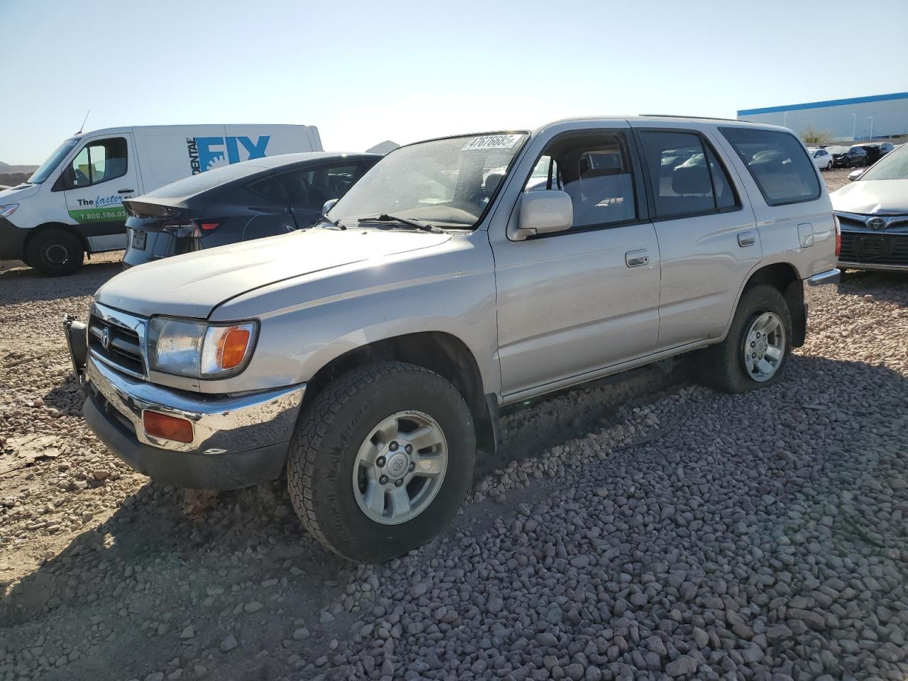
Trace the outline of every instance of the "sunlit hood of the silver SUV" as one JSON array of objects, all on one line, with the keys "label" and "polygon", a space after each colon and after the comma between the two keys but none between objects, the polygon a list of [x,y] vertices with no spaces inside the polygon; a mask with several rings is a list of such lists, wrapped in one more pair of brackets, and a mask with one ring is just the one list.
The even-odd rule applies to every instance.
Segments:
[{"label": "sunlit hood of the silver SUV", "polygon": [[94,299],[150,317],[207,318],[223,301],[277,281],[447,242],[449,234],[379,229],[311,229],[177,255],[123,271]]}]

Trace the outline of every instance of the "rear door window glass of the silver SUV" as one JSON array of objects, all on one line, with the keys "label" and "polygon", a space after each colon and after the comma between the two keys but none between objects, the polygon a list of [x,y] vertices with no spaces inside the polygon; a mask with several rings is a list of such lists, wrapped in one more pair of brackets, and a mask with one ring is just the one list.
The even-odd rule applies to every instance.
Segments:
[{"label": "rear door window glass of the silver SUV", "polygon": [[696,133],[641,131],[657,218],[740,207],[734,185],[712,148]]}]

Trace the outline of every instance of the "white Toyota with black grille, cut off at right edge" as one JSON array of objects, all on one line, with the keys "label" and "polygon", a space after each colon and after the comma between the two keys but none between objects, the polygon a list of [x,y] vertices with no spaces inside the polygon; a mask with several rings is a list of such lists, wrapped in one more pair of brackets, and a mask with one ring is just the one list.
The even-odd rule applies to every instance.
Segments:
[{"label": "white Toyota with black grille, cut off at right edge", "polygon": [[839,267],[908,272],[908,147],[855,173],[830,195],[842,225]]}]

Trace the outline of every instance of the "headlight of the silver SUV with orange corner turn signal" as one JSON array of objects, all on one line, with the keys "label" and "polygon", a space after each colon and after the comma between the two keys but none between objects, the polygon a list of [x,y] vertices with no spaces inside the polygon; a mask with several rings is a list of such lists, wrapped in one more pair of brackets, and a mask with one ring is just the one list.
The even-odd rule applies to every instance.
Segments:
[{"label": "headlight of the silver SUV with orange corner turn signal", "polygon": [[256,321],[209,324],[153,317],[148,322],[148,365],[198,379],[232,376],[249,363],[258,330]]}]

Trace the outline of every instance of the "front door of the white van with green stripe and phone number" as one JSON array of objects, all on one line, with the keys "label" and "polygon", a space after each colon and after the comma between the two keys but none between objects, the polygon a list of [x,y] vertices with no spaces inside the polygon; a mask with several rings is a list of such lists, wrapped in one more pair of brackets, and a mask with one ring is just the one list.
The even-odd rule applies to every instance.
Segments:
[{"label": "front door of the white van with green stripe and phone number", "polygon": [[89,140],[64,167],[54,191],[64,192],[66,212],[89,252],[126,247],[123,199],[139,193],[132,136]]}]

